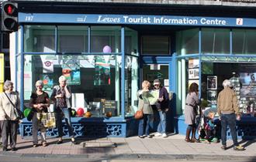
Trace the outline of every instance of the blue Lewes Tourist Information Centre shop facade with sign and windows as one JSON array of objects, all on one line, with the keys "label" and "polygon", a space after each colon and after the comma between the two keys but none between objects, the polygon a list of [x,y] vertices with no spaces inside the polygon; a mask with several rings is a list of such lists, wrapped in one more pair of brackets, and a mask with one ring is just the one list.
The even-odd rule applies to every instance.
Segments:
[{"label": "blue Lewes Tourist Information Centre shop facade with sign and windows", "polygon": [[[76,137],[136,136],[133,115],[144,79],[160,79],[168,89],[168,132],[182,134],[189,85],[198,83],[205,106],[216,110],[223,80],[232,79],[243,114],[238,135],[256,135],[254,18],[19,12],[19,26],[15,74],[22,109],[36,80],[50,95],[59,76],[66,76],[72,109],[92,114],[71,118]],[[151,126],[154,131],[156,120]],[[22,137],[31,130],[23,120]],[[57,136],[57,130],[47,135]]]}]

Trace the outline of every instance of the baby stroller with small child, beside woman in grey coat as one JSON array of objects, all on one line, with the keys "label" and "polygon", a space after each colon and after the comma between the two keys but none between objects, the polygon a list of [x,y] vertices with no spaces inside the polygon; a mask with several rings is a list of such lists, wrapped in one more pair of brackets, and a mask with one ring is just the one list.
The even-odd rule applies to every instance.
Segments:
[{"label": "baby stroller with small child, beside woman in grey coat", "polygon": [[217,143],[216,125],[213,122],[215,113],[213,111],[202,111],[199,122],[199,140],[206,143]]}]

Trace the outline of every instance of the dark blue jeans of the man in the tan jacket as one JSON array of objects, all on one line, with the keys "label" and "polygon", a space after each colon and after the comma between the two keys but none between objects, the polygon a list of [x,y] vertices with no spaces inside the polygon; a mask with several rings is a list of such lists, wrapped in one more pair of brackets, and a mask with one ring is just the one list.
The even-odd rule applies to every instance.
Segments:
[{"label": "dark blue jeans of the man in the tan jacket", "polygon": [[236,115],[234,113],[221,114],[221,143],[222,145],[227,144],[227,126],[230,127],[230,133],[234,146],[237,146],[237,130],[236,130]]}]

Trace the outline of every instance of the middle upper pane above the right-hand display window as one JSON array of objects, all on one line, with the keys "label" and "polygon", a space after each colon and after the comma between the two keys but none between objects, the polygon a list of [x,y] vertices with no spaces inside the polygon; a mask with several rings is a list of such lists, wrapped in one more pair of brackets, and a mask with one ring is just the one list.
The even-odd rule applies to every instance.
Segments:
[{"label": "middle upper pane above the right-hand display window", "polygon": [[230,29],[202,29],[202,54],[230,54]]}]

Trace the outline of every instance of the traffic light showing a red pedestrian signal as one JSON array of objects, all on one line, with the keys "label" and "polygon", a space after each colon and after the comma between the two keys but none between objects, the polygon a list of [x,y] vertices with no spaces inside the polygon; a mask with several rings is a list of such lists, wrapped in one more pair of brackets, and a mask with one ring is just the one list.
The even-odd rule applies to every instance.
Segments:
[{"label": "traffic light showing a red pedestrian signal", "polygon": [[2,3],[2,32],[16,32],[18,30],[18,4]]}]

